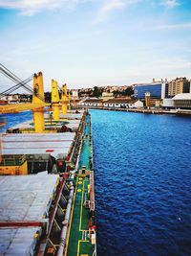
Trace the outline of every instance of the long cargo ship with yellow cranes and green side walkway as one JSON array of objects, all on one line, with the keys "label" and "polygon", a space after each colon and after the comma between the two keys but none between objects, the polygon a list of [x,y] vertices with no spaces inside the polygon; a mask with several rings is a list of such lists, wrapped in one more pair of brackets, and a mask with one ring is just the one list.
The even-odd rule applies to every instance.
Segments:
[{"label": "long cargo ship with yellow cranes and green side walkway", "polygon": [[96,255],[91,115],[67,110],[55,81],[44,113],[42,85],[34,75],[33,120],[1,134],[0,255]]}]

